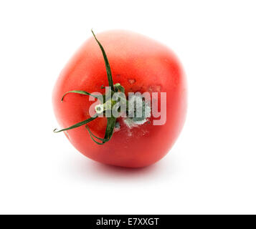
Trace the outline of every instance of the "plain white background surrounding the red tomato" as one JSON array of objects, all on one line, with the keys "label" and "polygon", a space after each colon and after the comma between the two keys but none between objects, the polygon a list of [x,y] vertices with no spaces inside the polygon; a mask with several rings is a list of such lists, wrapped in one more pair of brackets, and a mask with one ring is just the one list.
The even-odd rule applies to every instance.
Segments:
[{"label": "plain white background surrounding the red tomato", "polygon": [[[0,213],[256,213],[255,1],[0,1]],[[51,93],[93,28],[169,45],[189,82],[186,125],[151,167],[75,150]]]}]

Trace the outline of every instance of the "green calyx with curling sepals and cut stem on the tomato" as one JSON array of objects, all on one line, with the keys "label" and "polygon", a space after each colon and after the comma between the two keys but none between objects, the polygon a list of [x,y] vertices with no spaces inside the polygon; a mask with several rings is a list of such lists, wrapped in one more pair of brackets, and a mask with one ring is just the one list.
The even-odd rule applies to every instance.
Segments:
[{"label": "green calyx with curling sepals and cut stem on the tomato", "polygon": [[[81,91],[81,90],[72,90],[69,92],[66,92],[61,99],[61,102],[63,102],[64,97],[69,94],[69,93],[76,93],[76,94],[84,94],[84,95],[89,95],[89,96],[93,96],[97,99],[100,100],[100,104],[95,106],[95,115],[93,115],[93,117],[90,117],[87,120],[84,120],[82,122],[78,122],[75,125],[72,125],[70,127],[67,127],[65,129],[62,130],[57,130],[54,129],[53,132],[62,132],[62,131],[67,131],[67,130],[71,130],[77,127],[80,127],[82,125],[85,125],[85,128],[87,129],[87,131],[89,132],[89,135],[91,137],[91,139],[97,143],[98,145],[103,145],[105,144],[105,142],[108,142],[112,135],[113,135],[113,131],[115,128],[115,122],[116,122],[116,117],[114,117],[113,115],[110,115],[110,117],[106,116],[106,113],[111,111],[113,109],[113,107],[117,104],[117,102],[120,102],[120,104],[128,104],[128,101],[126,100],[126,98],[119,98],[118,101],[113,100],[111,97],[115,92],[125,92],[125,89],[123,86],[121,86],[119,83],[117,84],[113,84],[113,77],[112,77],[112,73],[111,73],[111,69],[110,69],[110,64],[108,62],[108,57],[105,54],[105,50],[103,48],[103,46],[100,44],[100,42],[98,41],[98,39],[96,38],[93,29],[91,30],[93,33],[93,36],[96,40],[96,42],[98,43],[101,52],[103,54],[103,58],[104,58],[104,62],[105,62],[105,68],[106,68],[106,72],[107,72],[107,76],[108,76],[108,85],[110,87],[110,90],[103,96],[101,95],[97,95],[97,94],[91,94],[90,92],[85,92],[85,91]],[[103,87],[101,87],[103,88]],[[120,108],[119,108],[120,109]],[[116,110],[118,112],[118,109]],[[100,117],[100,115],[105,115],[105,117],[107,117],[107,127],[105,130],[105,136],[104,138],[100,138],[97,137],[96,135],[93,134],[93,132],[91,132],[90,128],[87,126],[87,123],[95,120],[96,118]]]}]

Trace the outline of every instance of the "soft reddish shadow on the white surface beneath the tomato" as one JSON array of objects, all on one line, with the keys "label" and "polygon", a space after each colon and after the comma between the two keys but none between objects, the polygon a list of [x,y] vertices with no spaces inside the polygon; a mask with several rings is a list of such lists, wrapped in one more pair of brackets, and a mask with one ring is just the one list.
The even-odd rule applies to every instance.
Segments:
[{"label": "soft reddish shadow on the white surface beneath the tomato", "polygon": [[[69,160],[68,173],[72,177],[94,182],[114,181],[122,182],[131,180],[133,182],[156,182],[156,180],[169,179],[176,172],[175,159],[167,155],[153,165],[140,168],[118,167],[103,165],[86,157],[75,157]],[[159,179],[158,179],[159,178]]]}]

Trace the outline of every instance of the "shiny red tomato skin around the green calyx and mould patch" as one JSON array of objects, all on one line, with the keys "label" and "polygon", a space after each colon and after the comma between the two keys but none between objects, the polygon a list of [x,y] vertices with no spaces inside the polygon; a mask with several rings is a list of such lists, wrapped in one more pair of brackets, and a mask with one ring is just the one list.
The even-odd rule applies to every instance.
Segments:
[{"label": "shiny red tomato skin around the green calyx and mould patch", "polygon": [[[113,74],[113,82],[128,92],[166,92],[167,112],[164,125],[153,125],[153,117],[143,125],[129,128],[122,118],[120,130],[104,145],[91,140],[85,126],[67,131],[67,138],[77,150],[91,159],[108,165],[144,167],[160,160],[179,136],[186,116],[186,79],[179,60],[163,44],[131,31],[114,30],[96,34],[103,45]],[[93,36],[67,63],[54,86],[54,113],[62,128],[90,117],[89,107],[95,101],[70,90],[104,93],[108,86],[103,54]],[[158,107],[160,107],[158,96]],[[104,137],[105,117],[90,122],[95,135]]]}]

